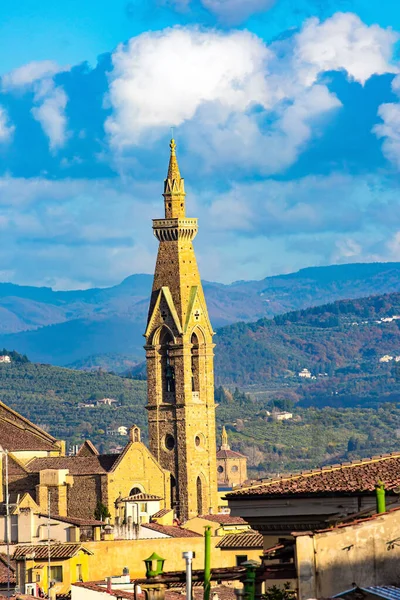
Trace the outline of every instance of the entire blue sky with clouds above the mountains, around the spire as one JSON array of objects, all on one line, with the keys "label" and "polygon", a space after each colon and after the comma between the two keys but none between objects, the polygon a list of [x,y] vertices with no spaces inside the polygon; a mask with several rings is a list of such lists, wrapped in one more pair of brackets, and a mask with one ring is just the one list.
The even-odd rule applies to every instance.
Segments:
[{"label": "entire blue sky with clouds above the mountains, around the spire", "polygon": [[175,128],[204,278],[400,260],[392,0],[3,0],[0,280],[152,272]]}]

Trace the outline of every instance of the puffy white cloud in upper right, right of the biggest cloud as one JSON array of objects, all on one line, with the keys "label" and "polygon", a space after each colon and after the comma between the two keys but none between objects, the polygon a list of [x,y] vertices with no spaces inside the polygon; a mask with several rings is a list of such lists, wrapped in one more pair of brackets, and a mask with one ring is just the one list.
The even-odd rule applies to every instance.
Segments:
[{"label": "puffy white cloud in upper right, right of the biggest cloud", "polygon": [[353,13],[336,13],[323,23],[314,17],[296,36],[296,62],[307,85],[319,73],[338,70],[364,84],[371,75],[398,72],[391,63],[398,38],[391,29],[365,25]]}]

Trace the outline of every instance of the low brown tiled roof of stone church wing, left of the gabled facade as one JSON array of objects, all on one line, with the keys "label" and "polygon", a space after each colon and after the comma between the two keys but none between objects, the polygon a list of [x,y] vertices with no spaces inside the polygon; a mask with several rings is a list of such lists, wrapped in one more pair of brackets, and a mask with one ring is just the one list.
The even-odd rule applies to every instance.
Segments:
[{"label": "low brown tiled roof of stone church wing, left of the gabled facade", "polygon": [[43,469],[69,469],[71,475],[96,475],[111,471],[118,458],[118,454],[34,458],[26,468],[33,473]]}]

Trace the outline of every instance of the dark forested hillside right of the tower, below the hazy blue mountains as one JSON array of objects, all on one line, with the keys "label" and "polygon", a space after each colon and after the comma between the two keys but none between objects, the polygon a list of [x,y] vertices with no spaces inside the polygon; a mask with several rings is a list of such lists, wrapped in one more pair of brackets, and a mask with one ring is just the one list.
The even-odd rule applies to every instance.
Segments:
[{"label": "dark forested hillside right of the tower, below the hazy blue mountains", "polygon": [[[341,300],[217,331],[218,383],[289,387],[293,398],[398,394],[400,294]],[[381,362],[382,357],[392,357]],[[299,373],[308,369],[312,378]],[[282,391],[282,389],[281,389]]]}]

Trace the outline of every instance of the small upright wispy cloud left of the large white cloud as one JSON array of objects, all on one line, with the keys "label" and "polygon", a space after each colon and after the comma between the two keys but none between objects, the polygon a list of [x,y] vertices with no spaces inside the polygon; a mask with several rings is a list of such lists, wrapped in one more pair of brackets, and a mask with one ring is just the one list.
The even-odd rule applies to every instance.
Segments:
[{"label": "small upright wispy cloud left of the large white cloud", "polygon": [[63,88],[56,87],[51,79],[43,79],[37,84],[35,102],[38,105],[32,108],[32,114],[49,138],[50,149],[53,151],[64,146],[67,139],[67,101]]}]

